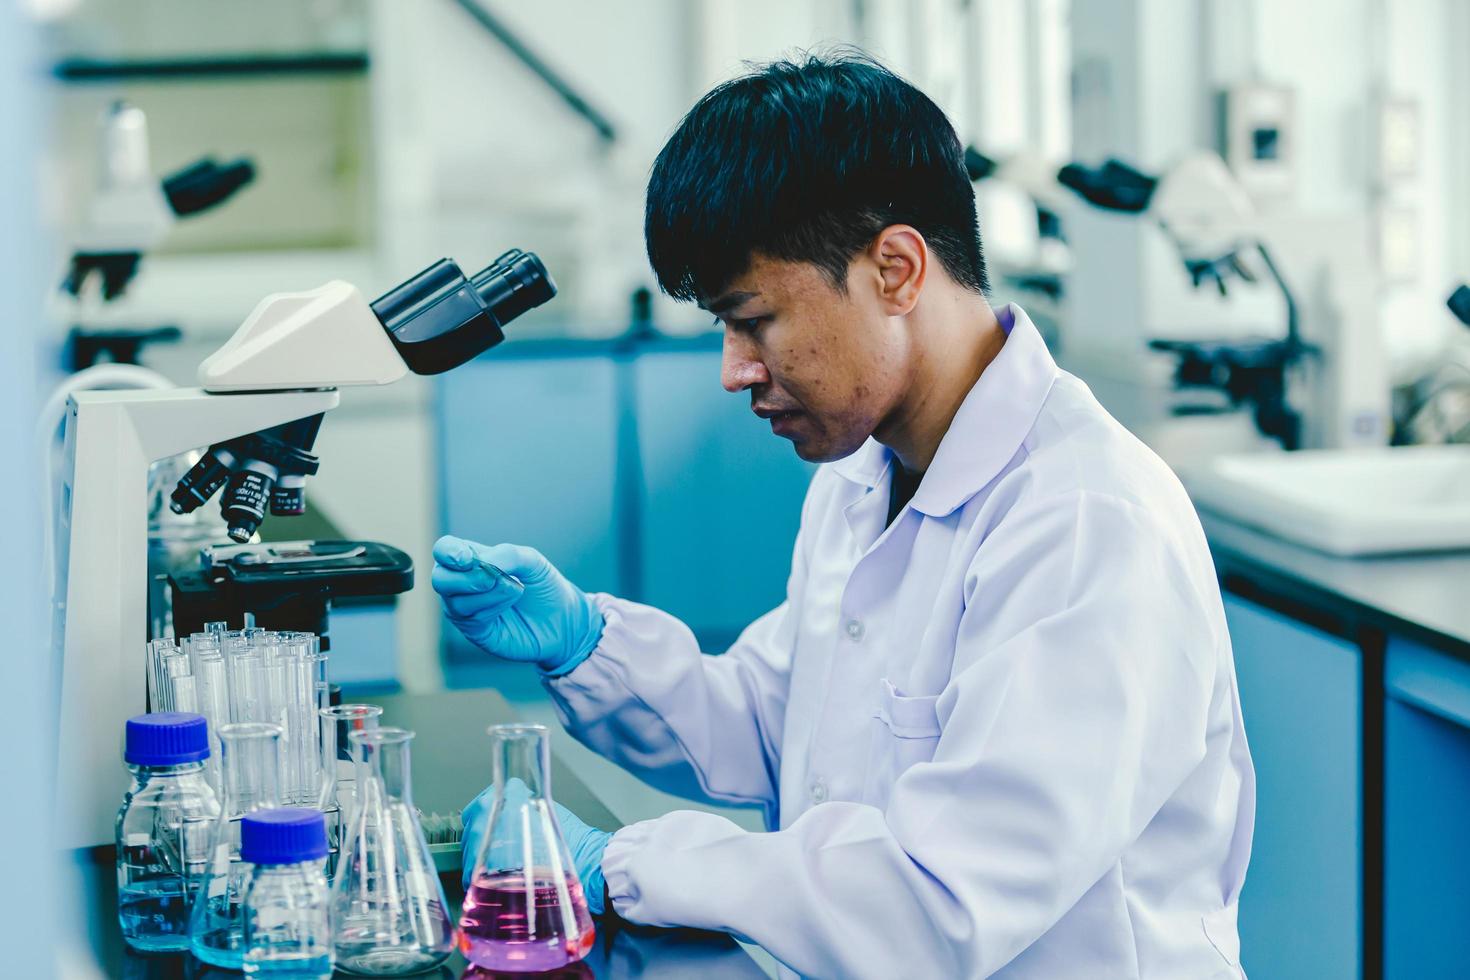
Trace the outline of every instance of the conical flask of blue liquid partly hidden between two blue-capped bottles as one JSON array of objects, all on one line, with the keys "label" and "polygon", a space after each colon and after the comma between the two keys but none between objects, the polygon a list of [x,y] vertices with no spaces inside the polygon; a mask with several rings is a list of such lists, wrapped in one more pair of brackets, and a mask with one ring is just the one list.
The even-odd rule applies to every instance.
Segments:
[{"label": "conical flask of blue liquid partly hidden between two blue-capped bottles", "polygon": [[209,840],[209,873],[190,912],[190,952],[229,970],[244,967],[245,886],[251,865],[240,860],[240,818],[281,805],[281,726],[245,721],[219,727],[223,805]]}]

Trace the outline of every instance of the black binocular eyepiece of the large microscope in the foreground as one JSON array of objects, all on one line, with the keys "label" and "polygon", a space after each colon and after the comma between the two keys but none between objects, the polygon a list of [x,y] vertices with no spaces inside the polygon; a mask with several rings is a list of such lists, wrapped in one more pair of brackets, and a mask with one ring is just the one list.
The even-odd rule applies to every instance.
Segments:
[{"label": "black binocular eyepiece of the large microscope in the foreground", "polygon": [[440,375],[506,339],[501,328],[556,295],[541,260],[514,248],[473,279],[441,259],[372,304],[403,363]]}]

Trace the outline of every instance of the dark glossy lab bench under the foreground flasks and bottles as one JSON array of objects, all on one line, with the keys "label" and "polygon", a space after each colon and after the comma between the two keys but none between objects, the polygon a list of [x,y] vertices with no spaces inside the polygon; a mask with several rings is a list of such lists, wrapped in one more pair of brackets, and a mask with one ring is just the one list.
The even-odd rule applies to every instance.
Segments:
[{"label": "dark glossy lab bench under the foreground flasks and bottles", "polygon": [[[350,696],[350,692],[348,692]],[[413,801],[423,813],[451,813],[467,804],[491,782],[490,739],[485,727],[514,721],[514,710],[494,691],[450,691],[442,693],[365,698],[384,708],[382,720],[410,729],[413,741]],[[551,790],[557,802],[594,827],[622,826],[587,786],[556,757],[551,760]],[[118,892],[112,848],[96,848],[81,857],[81,890],[88,896],[90,940],[104,976],[129,980],[184,977],[238,977],[238,973],[206,967],[187,955],[143,955],[129,951],[118,930]],[[463,892],[460,873],[441,876],[450,912],[457,918]],[[729,936],[684,929],[647,929],[616,917],[597,920],[597,946],[584,967],[557,971],[564,980],[603,977],[694,977],[764,980],[769,974]],[[431,980],[450,977],[510,977],[467,971],[454,956],[438,971],[417,974]],[[338,974],[347,976],[347,974]],[[544,976],[544,974],[534,974]]]}]

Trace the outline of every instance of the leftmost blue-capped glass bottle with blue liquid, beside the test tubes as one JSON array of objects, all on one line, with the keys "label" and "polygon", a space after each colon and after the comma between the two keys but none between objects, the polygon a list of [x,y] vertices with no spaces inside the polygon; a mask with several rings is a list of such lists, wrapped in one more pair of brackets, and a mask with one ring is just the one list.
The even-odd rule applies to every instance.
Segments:
[{"label": "leftmost blue-capped glass bottle with blue liquid, beside the test tubes", "polygon": [[123,761],[132,786],[118,811],[118,921],[144,952],[188,949],[190,896],[209,867],[219,801],[204,777],[204,716],[128,718]]}]

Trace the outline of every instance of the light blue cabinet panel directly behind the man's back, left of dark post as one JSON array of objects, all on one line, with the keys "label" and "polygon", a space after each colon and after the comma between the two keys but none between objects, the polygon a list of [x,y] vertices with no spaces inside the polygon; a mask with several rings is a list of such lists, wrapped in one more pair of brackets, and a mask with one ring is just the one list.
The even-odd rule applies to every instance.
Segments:
[{"label": "light blue cabinet panel directly behind the man's back, left of dark post", "polygon": [[1241,961],[1272,980],[1363,976],[1361,654],[1233,595],[1255,843]]}]

